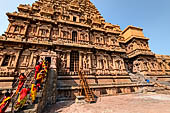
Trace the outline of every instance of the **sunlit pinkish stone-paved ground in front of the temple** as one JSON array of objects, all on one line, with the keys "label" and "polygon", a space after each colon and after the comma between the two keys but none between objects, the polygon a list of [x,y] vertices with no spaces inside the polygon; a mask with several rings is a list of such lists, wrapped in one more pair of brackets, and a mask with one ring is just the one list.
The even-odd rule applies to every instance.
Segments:
[{"label": "sunlit pinkish stone-paved ground in front of the temple", "polygon": [[44,113],[170,113],[170,95],[129,94],[98,98],[94,104],[62,101]]}]

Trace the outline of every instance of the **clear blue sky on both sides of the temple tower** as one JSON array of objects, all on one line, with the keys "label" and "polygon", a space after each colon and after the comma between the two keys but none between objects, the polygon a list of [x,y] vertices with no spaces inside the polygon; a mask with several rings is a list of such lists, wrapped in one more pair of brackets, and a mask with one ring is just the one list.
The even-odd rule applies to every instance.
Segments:
[{"label": "clear blue sky on both sides of the temple tower", "polygon": [[[3,0],[0,4],[0,34],[8,26],[6,12],[17,11],[19,4],[35,0]],[[157,54],[170,55],[170,0],[91,0],[107,22],[142,27],[149,45]]]}]

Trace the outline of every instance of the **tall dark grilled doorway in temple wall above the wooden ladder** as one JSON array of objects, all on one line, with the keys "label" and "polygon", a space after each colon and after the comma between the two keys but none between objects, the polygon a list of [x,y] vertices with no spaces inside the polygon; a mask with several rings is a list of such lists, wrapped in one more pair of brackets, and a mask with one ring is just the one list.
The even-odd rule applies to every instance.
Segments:
[{"label": "tall dark grilled doorway in temple wall above the wooden ladder", "polygon": [[79,71],[79,53],[78,51],[72,51],[70,53],[70,71]]}]

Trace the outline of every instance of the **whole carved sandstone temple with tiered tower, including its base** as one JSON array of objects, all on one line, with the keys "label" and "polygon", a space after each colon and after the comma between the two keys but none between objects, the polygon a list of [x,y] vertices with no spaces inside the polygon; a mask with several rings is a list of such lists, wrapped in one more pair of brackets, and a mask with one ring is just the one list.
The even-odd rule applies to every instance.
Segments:
[{"label": "whole carved sandstone temple with tiered tower, including its base", "polygon": [[57,81],[55,99],[74,99],[79,71],[96,96],[136,92],[152,84],[133,82],[131,74],[170,81],[170,56],[153,53],[143,29],[105,21],[90,0],[38,0],[7,13],[0,36],[0,89],[12,88],[18,72],[50,59]]}]

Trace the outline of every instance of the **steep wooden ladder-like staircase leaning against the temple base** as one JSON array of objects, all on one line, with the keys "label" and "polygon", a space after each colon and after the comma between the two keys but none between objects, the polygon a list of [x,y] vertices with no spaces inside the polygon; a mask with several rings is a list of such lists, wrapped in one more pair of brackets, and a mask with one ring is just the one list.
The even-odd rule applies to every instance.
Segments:
[{"label": "steep wooden ladder-like staircase leaning against the temple base", "polygon": [[89,103],[95,102],[93,92],[89,88],[88,82],[81,71],[79,71],[79,78],[80,78],[80,85],[82,87],[80,95],[82,95],[83,89],[84,89],[86,102],[89,102]]}]

